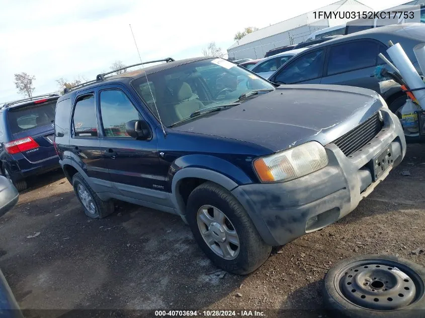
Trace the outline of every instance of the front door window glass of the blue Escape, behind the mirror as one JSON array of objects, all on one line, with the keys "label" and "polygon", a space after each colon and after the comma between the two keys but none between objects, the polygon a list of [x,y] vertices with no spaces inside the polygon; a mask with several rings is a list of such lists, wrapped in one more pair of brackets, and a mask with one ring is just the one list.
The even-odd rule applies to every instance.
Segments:
[{"label": "front door window glass of the blue Escape, behind the mirror", "polygon": [[130,137],[125,124],[142,119],[127,95],[118,89],[100,93],[101,117],[105,137]]}]

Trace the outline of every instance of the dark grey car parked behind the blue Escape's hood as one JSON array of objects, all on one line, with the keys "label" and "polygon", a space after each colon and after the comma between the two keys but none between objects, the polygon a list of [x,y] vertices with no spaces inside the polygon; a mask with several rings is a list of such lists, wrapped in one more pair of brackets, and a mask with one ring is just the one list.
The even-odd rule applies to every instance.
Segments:
[{"label": "dark grey car parked behind the blue Escape's hood", "polygon": [[[389,59],[386,50],[390,40],[400,43],[420,72],[413,47],[425,42],[425,25],[407,23],[356,32],[317,44],[282,65],[269,79],[278,84],[359,86],[381,93],[382,79],[375,76],[375,68],[385,64],[379,53]],[[406,102],[406,94],[399,85],[383,91],[382,97],[395,113]]]}]

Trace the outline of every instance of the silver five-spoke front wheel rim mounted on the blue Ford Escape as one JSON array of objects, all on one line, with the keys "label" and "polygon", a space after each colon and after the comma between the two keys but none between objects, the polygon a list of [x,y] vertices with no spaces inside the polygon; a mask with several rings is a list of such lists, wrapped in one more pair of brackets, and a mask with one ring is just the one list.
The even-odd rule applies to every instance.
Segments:
[{"label": "silver five-spoke front wheel rim mounted on the blue Ford Escape", "polygon": [[215,254],[226,260],[233,260],[239,255],[239,236],[220,209],[203,205],[198,209],[196,220],[202,238]]}]

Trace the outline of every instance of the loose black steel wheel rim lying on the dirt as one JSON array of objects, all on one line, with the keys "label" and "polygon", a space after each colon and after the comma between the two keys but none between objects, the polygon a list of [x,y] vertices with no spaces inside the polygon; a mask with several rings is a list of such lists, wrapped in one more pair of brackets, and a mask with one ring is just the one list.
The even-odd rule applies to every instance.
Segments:
[{"label": "loose black steel wheel rim lying on the dirt", "polygon": [[423,282],[414,270],[382,259],[345,266],[335,275],[334,286],[354,305],[379,311],[406,308],[424,293]]}]

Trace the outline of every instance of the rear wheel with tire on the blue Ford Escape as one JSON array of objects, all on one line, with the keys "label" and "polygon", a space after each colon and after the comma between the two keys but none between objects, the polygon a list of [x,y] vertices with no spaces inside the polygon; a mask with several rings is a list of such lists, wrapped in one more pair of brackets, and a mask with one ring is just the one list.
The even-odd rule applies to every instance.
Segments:
[{"label": "rear wheel with tire on the blue Ford Escape", "polygon": [[102,201],[79,172],[72,177],[72,187],[89,218],[103,219],[114,212],[114,202]]}]

